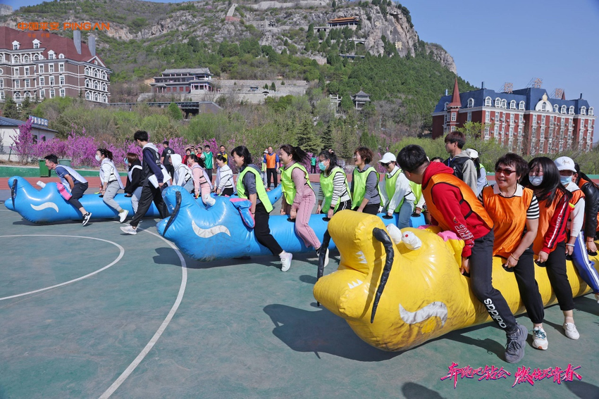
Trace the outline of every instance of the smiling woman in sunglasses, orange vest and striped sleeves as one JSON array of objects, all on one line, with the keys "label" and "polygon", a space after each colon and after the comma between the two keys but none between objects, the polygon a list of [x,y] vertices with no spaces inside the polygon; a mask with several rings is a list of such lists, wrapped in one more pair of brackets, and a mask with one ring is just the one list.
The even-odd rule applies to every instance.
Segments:
[{"label": "smiling woman in sunglasses, orange vest and striped sleeves", "polygon": [[533,348],[545,350],[545,310],[535,280],[532,250],[538,229],[538,201],[531,189],[518,184],[528,171],[529,165],[521,156],[505,154],[495,163],[495,185],[486,186],[478,199],[494,223],[493,256],[504,258],[505,270],[514,272],[520,298],[533,322]]}]

